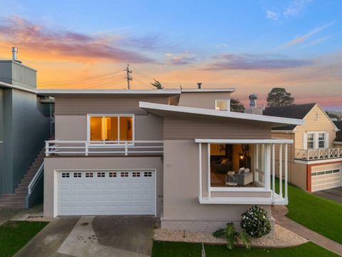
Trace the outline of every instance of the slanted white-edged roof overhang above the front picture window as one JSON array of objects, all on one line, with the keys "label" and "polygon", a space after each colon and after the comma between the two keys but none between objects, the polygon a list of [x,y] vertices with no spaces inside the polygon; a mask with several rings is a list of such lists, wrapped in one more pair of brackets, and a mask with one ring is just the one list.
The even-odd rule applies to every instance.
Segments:
[{"label": "slanted white-edged roof overhang above the front picture window", "polygon": [[185,119],[215,119],[223,121],[235,121],[242,124],[259,124],[268,126],[284,125],[303,125],[304,121],[300,119],[280,118],[274,116],[264,116],[257,114],[243,114],[232,111],[217,111],[211,109],[200,109],[185,106],[171,106],[167,104],[153,104],[139,102],[139,106],[145,111],[159,116],[180,116]]}]

